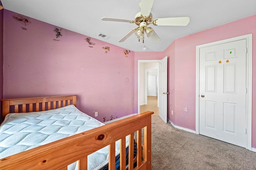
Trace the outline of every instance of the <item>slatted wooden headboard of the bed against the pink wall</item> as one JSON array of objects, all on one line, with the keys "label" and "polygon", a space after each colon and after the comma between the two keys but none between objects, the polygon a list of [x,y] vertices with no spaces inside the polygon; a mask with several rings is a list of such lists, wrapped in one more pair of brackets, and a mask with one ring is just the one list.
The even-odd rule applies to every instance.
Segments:
[{"label": "slatted wooden headboard of the bed against the pink wall", "polygon": [[70,104],[76,106],[76,96],[77,95],[1,99],[2,119],[4,119],[12,109],[14,110],[12,113],[27,113],[57,109]]}]

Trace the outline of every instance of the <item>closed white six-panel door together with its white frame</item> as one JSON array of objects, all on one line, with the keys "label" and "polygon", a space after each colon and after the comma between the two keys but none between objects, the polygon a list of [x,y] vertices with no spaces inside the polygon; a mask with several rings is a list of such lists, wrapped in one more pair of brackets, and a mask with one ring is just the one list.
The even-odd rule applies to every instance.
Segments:
[{"label": "closed white six-panel door together with its white frame", "polygon": [[251,150],[252,34],[196,47],[196,134]]}]

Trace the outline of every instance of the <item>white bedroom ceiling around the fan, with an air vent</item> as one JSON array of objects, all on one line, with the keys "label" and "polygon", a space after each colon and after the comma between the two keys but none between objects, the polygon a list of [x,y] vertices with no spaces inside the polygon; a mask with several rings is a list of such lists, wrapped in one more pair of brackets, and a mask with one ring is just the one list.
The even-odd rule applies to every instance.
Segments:
[{"label": "white bedroom ceiling around the fan, with an air vent", "polygon": [[[140,0],[1,0],[4,9],[24,16],[96,38],[132,51],[164,51],[176,38],[256,14],[256,0],[154,0],[153,19],[189,16],[188,26],[149,26],[160,42],[138,42],[132,34],[118,42],[130,30],[138,27],[126,22],[102,21],[102,17],[134,20],[140,12]],[[96,36],[103,33],[107,40]]]}]

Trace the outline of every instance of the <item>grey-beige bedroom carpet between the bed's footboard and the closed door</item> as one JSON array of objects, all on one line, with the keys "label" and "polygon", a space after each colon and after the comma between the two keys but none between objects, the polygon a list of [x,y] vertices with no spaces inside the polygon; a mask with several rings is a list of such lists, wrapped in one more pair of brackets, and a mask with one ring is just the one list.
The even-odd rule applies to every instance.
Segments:
[{"label": "grey-beige bedroom carpet between the bed's footboard and the closed door", "polygon": [[152,170],[256,170],[256,152],[174,128],[152,115]]}]

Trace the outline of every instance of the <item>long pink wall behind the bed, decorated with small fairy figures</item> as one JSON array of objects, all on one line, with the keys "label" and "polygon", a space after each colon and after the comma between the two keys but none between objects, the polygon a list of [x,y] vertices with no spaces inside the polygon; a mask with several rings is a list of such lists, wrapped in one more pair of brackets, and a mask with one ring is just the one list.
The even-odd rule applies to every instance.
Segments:
[{"label": "long pink wall behind the bed, decorated with small fairy figures", "polygon": [[32,18],[25,26],[12,16],[4,10],[4,98],[77,94],[78,109],[93,117],[98,111],[99,121],[134,113],[133,51],[126,57],[96,39],[88,47],[87,36],[62,28],[56,38],[56,26]]}]

